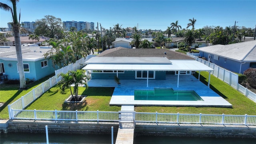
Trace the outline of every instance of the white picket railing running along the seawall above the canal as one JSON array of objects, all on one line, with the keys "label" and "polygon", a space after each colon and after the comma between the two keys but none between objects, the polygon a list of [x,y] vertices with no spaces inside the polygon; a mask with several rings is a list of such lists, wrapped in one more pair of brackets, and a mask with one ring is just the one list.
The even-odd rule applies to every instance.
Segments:
[{"label": "white picket railing running along the seawall above the canal", "polygon": [[[256,125],[256,116],[225,114],[168,114],[149,112],[101,112],[101,111],[65,111],[65,110],[13,110],[11,119],[19,120],[65,120],[97,122],[149,122],[175,124],[234,124]],[[126,118],[123,118],[126,117]]]}]

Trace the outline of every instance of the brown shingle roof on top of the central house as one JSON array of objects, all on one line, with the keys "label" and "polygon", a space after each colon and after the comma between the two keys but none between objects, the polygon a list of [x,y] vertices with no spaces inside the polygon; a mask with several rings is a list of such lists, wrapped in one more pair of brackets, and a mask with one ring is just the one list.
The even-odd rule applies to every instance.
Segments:
[{"label": "brown shingle roof on top of the central house", "polygon": [[[166,54],[164,54],[166,52]],[[154,49],[154,48],[112,48],[105,50],[98,56],[108,57],[167,57],[169,60],[194,60],[186,54],[175,52],[167,49]]]}]

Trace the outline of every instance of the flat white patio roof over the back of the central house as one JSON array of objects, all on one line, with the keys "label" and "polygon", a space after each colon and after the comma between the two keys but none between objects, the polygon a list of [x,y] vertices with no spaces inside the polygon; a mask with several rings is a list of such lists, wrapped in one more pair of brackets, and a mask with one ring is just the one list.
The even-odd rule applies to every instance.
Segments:
[{"label": "flat white patio roof over the back of the central house", "polygon": [[172,60],[172,64],[87,64],[83,70],[213,71],[196,60]]}]

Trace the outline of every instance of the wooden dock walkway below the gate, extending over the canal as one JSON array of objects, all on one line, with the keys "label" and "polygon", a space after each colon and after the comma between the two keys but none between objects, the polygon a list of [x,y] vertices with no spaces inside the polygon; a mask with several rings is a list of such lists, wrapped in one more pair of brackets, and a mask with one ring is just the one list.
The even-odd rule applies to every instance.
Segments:
[{"label": "wooden dock walkway below the gate, extending over the canal", "polygon": [[118,128],[115,144],[133,144],[134,123],[121,122]]}]

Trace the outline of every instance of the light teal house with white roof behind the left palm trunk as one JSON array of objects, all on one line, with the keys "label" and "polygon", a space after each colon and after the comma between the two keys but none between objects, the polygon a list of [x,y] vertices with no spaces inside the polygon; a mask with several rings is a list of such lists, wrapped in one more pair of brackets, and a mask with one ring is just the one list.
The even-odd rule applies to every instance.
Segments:
[{"label": "light teal house with white roof behind the left palm trunk", "polygon": [[[22,47],[22,60],[25,78],[39,80],[54,73],[52,60],[44,58],[50,48],[39,46]],[[20,79],[15,46],[0,47],[0,72],[8,79]]]}]

